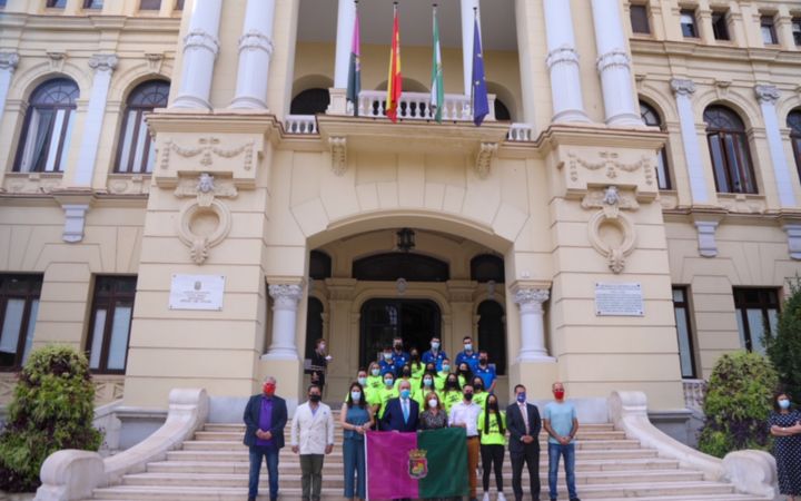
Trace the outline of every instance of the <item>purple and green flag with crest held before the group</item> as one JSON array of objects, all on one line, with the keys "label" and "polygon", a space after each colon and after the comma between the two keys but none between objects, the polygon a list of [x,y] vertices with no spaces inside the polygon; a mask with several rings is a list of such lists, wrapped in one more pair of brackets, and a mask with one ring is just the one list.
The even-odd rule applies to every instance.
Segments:
[{"label": "purple and green flag with crest held before the group", "polygon": [[467,435],[463,428],[367,432],[365,446],[369,499],[468,494]]}]

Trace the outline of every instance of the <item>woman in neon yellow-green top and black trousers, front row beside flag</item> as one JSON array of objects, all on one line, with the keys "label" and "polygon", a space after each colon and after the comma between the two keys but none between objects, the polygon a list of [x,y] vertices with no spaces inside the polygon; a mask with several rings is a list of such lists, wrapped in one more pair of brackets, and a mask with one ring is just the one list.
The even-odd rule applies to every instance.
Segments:
[{"label": "woman in neon yellow-green top and black trousers, front row beside flag", "polygon": [[[484,501],[490,500],[490,472],[495,470],[497,500],[506,501],[503,494],[503,461],[506,450],[506,413],[498,409],[497,396],[490,393],[484,411],[478,414],[482,471],[484,478]],[[474,396],[475,399],[475,396]]]}]

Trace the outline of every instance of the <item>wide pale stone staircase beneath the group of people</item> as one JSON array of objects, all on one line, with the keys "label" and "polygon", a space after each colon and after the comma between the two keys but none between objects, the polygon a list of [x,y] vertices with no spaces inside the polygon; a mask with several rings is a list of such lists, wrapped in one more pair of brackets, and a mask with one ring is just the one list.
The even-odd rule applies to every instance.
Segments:
[{"label": "wide pale stone staircase beneath the group of people", "polygon": [[[249,465],[247,448],[241,443],[244,430],[241,424],[206,424],[179,450],[168,452],[165,461],[148,463],[145,473],[125,475],[119,485],[96,489],[92,499],[245,500]],[[540,439],[542,499],[547,499],[545,435]],[[576,448],[576,489],[582,500],[765,501],[764,498],[736,493],[728,483],[704,481],[702,473],[682,469],[678,461],[660,458],[655,450],[627,440],[612,424],[582,425]],[[278,468],[280,499],[299,500],[300,464],[289,446],[281,450]],[[560,499],[566,499],[563,468],[560,468]],[[527,483],[524,473],[524,490]],[[342,429],[337,421],[336,445],[326,456],[323,469],[323,498],[342,499],[343,484]],[[491,484],[494,499],[494,475]],[[481,477],[478,485],[481,495]],[[508,499],[514,499],[508,454],[504,465],[504,491]],[[269,499],[264,465],[259,492],[260,500]]]}]

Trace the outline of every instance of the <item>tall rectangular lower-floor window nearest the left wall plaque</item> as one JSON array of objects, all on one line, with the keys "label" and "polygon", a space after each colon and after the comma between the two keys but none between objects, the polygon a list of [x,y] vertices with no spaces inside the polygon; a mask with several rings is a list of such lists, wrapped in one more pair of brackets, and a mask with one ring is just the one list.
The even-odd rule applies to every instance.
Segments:
[{"label": "tall rectangular lower-floor window nearest the left wall plaque", "polygon": [[89,369],[125,373],[136,277],[98,276],[89,322]]}]

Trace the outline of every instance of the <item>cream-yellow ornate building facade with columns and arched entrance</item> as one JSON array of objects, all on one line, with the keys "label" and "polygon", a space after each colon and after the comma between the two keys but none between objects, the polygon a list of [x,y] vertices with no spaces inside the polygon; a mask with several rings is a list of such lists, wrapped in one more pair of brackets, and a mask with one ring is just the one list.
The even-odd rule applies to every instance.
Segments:
[{"label": "cream-yellow ornate building facade with columns and arched entrance", "polygon": [[437,124],[432,6],[400,3],[393,124],[390,2],[358,7],[356,104],[350,1],[0,2],[0,399],[48,343],[164,409],[268,374],[295,403],[317,338],[337,400],[395,335],[471,335],[504,395],[670,414],[762,350],[801,272],[801,6],[443,2]]}]

